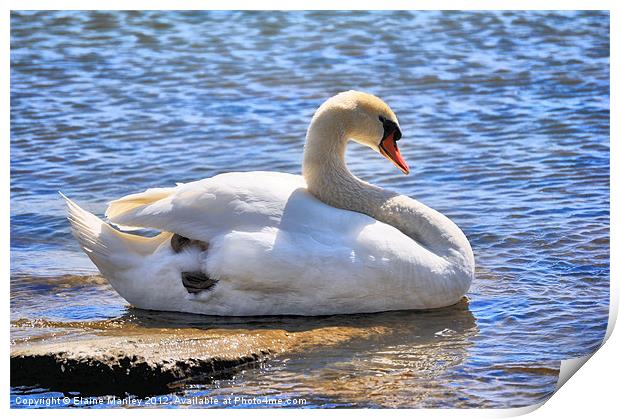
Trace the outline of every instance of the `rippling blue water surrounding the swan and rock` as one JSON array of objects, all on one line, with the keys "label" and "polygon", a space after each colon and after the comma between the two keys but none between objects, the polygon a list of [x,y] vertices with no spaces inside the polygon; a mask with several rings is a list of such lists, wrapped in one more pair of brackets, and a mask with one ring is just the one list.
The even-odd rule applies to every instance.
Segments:
[{"label": "rippling blue water surrounding the swan and rock", "polygon": [[[36,320],[56,322],[44,333],[58,334],[146,316],[96,276],[58,190],[101,214],[152,186],[299,173],[314,109],[352,88],[395,110],[412,174],[355,145],[350,168],[463,229],[477,262],[468,302],[335,316],[392,332],[173,394],[358,407],[548,397],[560,360],[593,351],[607,325],[606,12],[12,13],[12,339],[43,333],[27,326]],[[252,321],[311,329],[325,320]],[[12,400],[50,394],[16,388]]]}]

